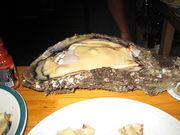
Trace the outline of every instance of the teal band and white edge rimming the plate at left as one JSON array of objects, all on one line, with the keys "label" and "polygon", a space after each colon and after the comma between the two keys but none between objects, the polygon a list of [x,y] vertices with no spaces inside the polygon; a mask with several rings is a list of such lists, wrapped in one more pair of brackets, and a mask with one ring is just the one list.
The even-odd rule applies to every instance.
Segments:
[{"label": "teal band and white edge rimming the plate at left", "polygon": [[27,107],[26,107],[26,103],[25,100],[23,99],[23,97],[13,88],[4,86],[4,85],[0,85],[0,89],[3,89],[7,92],[9,92],[10,94],[12,94],[15,99],[17,100],[18,104],[19,104],[19,108],[20,108],[20,120],[19,120],[19,125],[18,128],[15,132],[15,135],[22,135],[26,126],[26,122],[27,122]]}]

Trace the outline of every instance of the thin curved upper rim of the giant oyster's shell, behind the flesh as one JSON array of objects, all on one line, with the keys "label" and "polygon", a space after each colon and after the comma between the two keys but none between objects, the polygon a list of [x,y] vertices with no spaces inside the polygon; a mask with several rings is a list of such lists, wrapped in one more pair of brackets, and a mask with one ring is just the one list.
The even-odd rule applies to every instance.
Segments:
[{"label": "thin curved upper rim of the giant oyster's shell, behind the flesh", "polygon": [[[124,41],[124,40],[121,40],[119,38],[112,37],[112,36],[107,36],[107,35],[103,35],[103,34],[96,34],[96,33],[84,34],[84,35],[75,34],[74,36],[72,36],[70,38],[66,38],[65,40],[60,41],[60,42],[56,43],[55,45],[49,47],[48,50],[46,50],[35,61],[33,61],[30,64],[30,66],[23,73],[23,84],[26,85],[27,83],[29,83],[30,85],[33,85],[33,84],[35,84],[36,81],[40,81],[40,80],[35,79],[35,74],[36,73],[34,72],[35,69],[36,69],[37,64],[40,61],[45,60],[46,58],[51,56],[52,53],[54,53],[55,51],[63,50],[64,48],[70,46],[73,43],[79,42],[79,41],[84,40],[84,39],[92,39],[92,38],[107,39],[107,40],[113,41],[113,42],[115,42],[117,44],[121,44],[121,45],[123,45],[125,47],[128,47],[129,45],[134,45],[133,42]],[[60,49],[59,49],[59,46],[61,47]]]}]

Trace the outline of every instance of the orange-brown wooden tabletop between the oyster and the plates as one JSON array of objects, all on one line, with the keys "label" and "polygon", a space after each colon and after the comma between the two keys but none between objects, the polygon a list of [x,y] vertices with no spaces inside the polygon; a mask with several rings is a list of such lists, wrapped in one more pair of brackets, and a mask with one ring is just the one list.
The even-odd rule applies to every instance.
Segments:
[{"label": "orange-brown wooden tabletop between the oyster and the plates", "polygon": [[[20,78],[26,68],[26,66],[17,67]],[[100,97],[126,98],[144,102],[155,106],[180,120],[180,101],[171,97],[167,91],[160,93],[157,96],[149,96],[140,90],[126,93],[106,90],[76,90],[75,93],[70,94],[45,96],[43,92],[37,92],[25,88],[22,85],[16,90],[22,95],[27,105],[28,118],[24,131],[25,135],[51,113],[78,101]]]}]

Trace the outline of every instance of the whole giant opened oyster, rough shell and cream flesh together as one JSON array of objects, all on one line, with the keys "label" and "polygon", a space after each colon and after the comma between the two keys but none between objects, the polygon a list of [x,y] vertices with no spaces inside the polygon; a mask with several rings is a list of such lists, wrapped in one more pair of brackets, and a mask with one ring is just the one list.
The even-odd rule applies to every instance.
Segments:
[{"label": "whole giant opened oyster, rough shell and cream flesh together", "polygon": [[22,85],[47,95],[76,89],[140,89],[153,96],[179,81],[179,57],[162,57],[129,41],[87,34],[48,48],[24,71]]}]

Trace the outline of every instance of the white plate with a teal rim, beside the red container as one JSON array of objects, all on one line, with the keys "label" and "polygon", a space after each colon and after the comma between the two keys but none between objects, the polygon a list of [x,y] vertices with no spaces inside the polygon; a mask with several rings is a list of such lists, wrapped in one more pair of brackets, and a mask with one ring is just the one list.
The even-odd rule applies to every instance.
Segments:
[{"label": "white plate with a teal rim, beside the red container", "polygon": [[27,110],[24,99],[16,90],[0,85],[0,112],[12,114],[12,124],[7,135],[22,135]]}]

